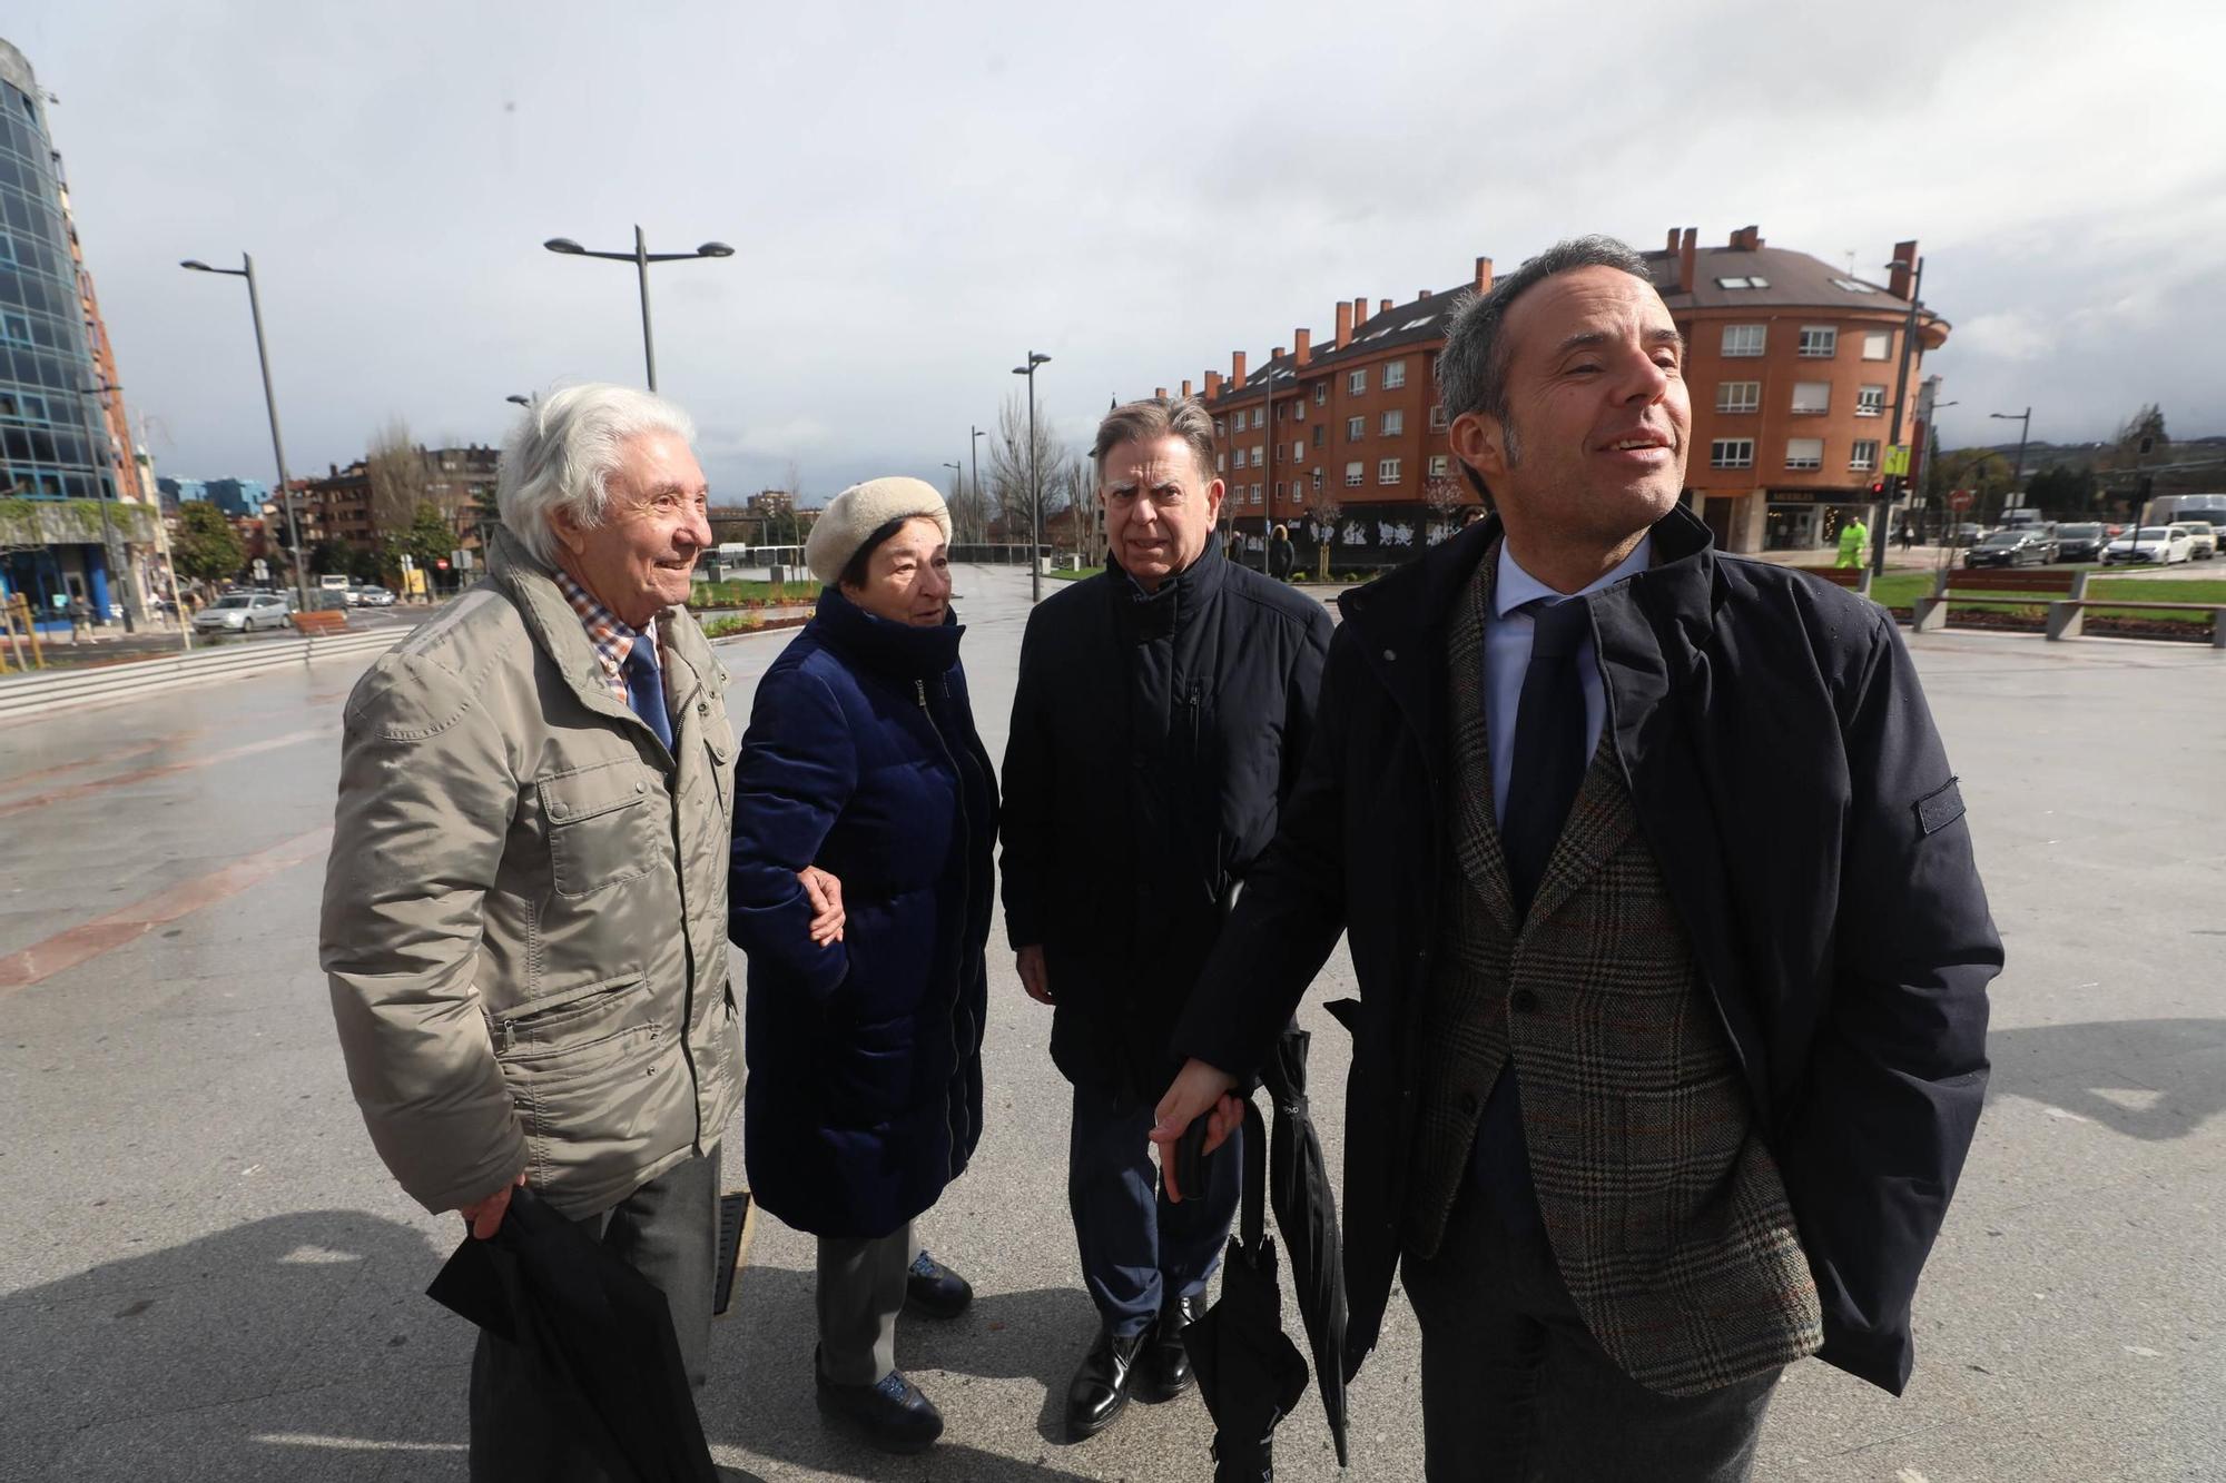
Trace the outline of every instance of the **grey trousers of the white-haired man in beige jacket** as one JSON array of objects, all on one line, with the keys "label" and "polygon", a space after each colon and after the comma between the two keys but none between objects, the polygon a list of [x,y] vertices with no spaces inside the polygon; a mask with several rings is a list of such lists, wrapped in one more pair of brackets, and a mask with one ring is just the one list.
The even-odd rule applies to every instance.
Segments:
[{"label": "grey trousers of the white-haired man in beige jacket", "polygon": [[[688,1158],[599,1216],[577,1220],[672,1305],[688,1381],[703,1385],[712,1267],[719,1260],[719,1151]],[[479,1334],[472,1352],[472,1483],[601,1483],[561,1403],[536,1389],[523,1354]]]}]

